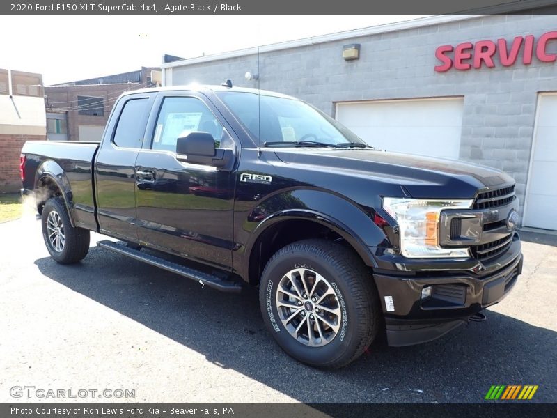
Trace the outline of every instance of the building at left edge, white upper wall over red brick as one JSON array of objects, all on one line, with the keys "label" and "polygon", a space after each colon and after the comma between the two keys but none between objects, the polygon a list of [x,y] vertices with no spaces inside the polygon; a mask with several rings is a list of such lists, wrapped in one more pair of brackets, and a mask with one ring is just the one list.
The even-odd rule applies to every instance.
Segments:
[{"label": "building at left edge, white upper wall over red brick", "polygon": [[0,69],[0,193],[22,187],[19,155],[24,142],[45,139],[42,75]]}]

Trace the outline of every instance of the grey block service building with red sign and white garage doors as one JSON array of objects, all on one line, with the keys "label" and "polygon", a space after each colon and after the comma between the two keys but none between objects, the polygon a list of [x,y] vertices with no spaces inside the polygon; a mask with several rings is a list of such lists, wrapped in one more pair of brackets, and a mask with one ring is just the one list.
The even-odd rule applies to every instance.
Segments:
[{"label": "grey block service building with red sign and white garage doors", "polygon": [[426,17],[175,61],[163,85],[230,78],[306,100],[383,150],[503,169],[522,226],[557,230],[556,14]]}]

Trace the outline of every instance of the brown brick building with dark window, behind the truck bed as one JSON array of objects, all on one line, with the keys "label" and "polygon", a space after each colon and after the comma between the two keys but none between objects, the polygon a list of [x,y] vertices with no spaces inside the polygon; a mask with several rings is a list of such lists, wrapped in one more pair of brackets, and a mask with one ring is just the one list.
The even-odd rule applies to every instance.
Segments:
[{"label": "brown brick building with dark window, behind the truck bed", "polygon": [[51,140],[100,141],[113,104],[125,91],[155,86],[159,68],[79,80],[45,87],[47,137]]}]

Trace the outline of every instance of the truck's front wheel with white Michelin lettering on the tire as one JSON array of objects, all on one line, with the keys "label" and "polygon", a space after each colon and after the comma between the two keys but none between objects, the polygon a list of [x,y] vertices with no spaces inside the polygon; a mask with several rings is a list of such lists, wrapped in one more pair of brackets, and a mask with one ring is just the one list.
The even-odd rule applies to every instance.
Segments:
[{"label": "truck's front wheel with white Michelin lettering on the tire", "polygon": [[[312,272],[316,273],[315,279]],[[303,282],[297,279],[301,274],[306,277],[307,287],[313,287],[311,291],[318,286],[325,286],[328,290],[310,291],[307,299],[304,288],[299,285]],[[295,297],[299,292],[294,281],[303,293],[301,297]],[[315,281],[319,285],[316,286]],[[290,295],[285,294],[284,289],[290,291]],[[320,302],[320,292],[329,295],[321,296],[326,297],[325,302]],[[311,295],[315,295],[315,301]],[[263,271],[259,302],[265,325],[278,345],[291,357],[315,367],[336,369],[354,361],[370,346],[380,323],[379,298],[370,270],[353,251],[326,240],[303,240],[278,250]],[[302,302],[302,306],[281,305],[279,308],[277,305],[283,302],[298,305]],[[306,308],[306,302],[313,303],[307,305],[311,309]],[[302,307],[306,313],[301,310],[298,316],[287,322],[287,329],[283,321]],[[340,315],[329,314],[326,307],[334,308]],[[329,327],[331,334],[325,332],[328,325],[318,320],[320,315],[327,315],[327,319],[336,324],[336,332],[332,327]],[[306,324],[301,325],[306,316]],[[298,327],[301,327],[300,331],[296,332]]]}]

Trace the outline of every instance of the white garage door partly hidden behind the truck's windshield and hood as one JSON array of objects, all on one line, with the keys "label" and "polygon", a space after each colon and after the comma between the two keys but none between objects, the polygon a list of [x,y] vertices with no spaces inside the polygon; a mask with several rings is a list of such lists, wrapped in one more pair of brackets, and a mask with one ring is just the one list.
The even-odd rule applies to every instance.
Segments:
[{"label": "white garage door partly hidden behind the truck's windshield and hood", "polygon": [[338,103],[337,120],[369,145],[458,159],[464,98]]}]

